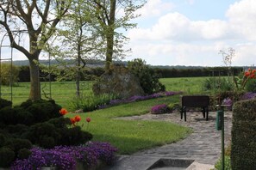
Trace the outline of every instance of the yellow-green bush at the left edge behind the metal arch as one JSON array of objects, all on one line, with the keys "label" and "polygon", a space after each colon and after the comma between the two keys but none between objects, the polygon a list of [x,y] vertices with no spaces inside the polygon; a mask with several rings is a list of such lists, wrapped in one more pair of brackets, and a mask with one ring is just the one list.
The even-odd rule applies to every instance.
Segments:
[{"label": "yellow-green bush at the left edge behind the metal arch", "polygon": [[18,82],[19,68],[16,65],[1,64],[1,84],[15,85]]}]

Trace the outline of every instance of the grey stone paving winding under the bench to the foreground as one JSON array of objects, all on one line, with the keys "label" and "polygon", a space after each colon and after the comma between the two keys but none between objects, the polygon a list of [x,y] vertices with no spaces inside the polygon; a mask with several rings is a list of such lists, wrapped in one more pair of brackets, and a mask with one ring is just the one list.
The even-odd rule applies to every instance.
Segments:
[{"label": "grey stone paving winding under the bench to the foreground", "polygon": [[[221,156],[221,131],[215,130],[216,112],[209,112],[209,121],[202,112],[187,112],[187,121],[180,119],[178,112],[168,114],[146,114],[123,119],[151,119],[170,121],[192,128],[193,133],[178,143],[141,150],[133,155],[122,155],[111,170],[146,170],[159,159],[195,160],[199,164],[214,165]],[[224,113],[225,144],[231,138],[232,112]],[[211,166],[213,167],[213,166]],[[194,168],[197,170],[197,168]],[[201,169],[209,169],[201,168]]]}]

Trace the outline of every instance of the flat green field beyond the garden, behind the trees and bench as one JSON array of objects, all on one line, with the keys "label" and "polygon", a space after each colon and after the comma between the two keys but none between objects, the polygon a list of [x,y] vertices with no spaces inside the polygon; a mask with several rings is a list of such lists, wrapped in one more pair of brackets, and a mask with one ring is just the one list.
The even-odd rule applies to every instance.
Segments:
[{"label": "flat green field beyond the garden, behind the trees and bench", "polygon": [[[182,78],[162,78],[160,82],[165,84],[166,91],[183,91],[185,94],[202,94],[202,82],[207,77],[182,77]],[[81,91],[84,94],[91,93],[93,82],[81,82]],[[12,88],[14,106],[28,100],[29,82],[19,83],[18,86]],[[49,82],[41,82],[41,88],[49,93]],[[1,87],[1,93],[10,93],[11,89],[6,86]],[[70,108],[70,101],[76,94],[75,82],[51,82],[51,97],[59,105]],[[47,94],[47,97],[50,95]],[[4,99],[10,100],[9,95],[3,95]],[[42,98],[46,99],[44,93]]]}]

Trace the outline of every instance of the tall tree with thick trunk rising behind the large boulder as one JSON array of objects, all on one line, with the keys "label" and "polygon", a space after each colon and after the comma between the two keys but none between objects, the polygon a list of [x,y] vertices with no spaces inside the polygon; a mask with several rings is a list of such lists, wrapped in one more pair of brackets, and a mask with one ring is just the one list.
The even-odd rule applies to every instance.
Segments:
[{"label": "tall tree with thick trunk rising behind the large boulder", "polygon": [[[123,33],[118,33],[116,30],[122,28],[135,27],[135,23],[130,23],[132,19],[138,17],[135,11],[144,5],[144,0],[90,0],[92,5],[92,13],[97,18],[97,26],[99,35],[106,42],[105,69],[109,70],[112,63],[114,53],[120,54],[123,52],[122,47],[125,39],[128,39]],[[122,12],[121,12],[122,11]],[[119,13],[118,13],[119,12]],[[121,14],[122,13],[122,14]],[[116,47],[116,49],[115,49]]]}]

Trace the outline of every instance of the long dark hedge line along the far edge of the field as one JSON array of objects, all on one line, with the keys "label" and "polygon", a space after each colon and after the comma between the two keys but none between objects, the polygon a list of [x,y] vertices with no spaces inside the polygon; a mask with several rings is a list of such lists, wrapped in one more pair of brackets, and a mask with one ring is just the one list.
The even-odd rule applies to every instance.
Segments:
[{"label": "long dark hedge line along the far edge of the field", "polygon": [[[3,64],[5,65],[5,64]],[[7,64],[9,65],[9,64]],[[2,66],[2,84],[9,84],[9,81],[7,78],[4,78],[5,76],[9,75],[9,66]],[[234,76],[237,76],[240,74],[240,72],[244,69],[243,67],[232,67],[231,72],[234,74]],[[13,66],[12,73],[13,75],[13,81],[14,82],[30,82],[30,76],[29,76],[29,66],[28,65],[22,65],[22,66]],[[191,68],[188,67],[188,69],[182,68],[165,68],[165,67],[150,67],[149,69],[152,74],[157,73],[159,77],[161,78],[172,78],[172,77],[195,77],[195,76],[228,76],[228,69],[227,67],[195,67]],[[61,75],[61,70],[59,70]],[[97,77],[101,76],[104,73],[103,67],[86,67],[83,70],[81,70],[81,80],[82,81],[93,81],[96,80]],[[48,74],[40,71],[40,77],[42,82],[51,81],[54,82],[57,79],[57,76],[54,74]],[[6,79],[6,80],[5,80]],[[66,81],[74,81],[72,77],[66,79]]]}]

